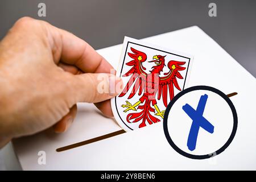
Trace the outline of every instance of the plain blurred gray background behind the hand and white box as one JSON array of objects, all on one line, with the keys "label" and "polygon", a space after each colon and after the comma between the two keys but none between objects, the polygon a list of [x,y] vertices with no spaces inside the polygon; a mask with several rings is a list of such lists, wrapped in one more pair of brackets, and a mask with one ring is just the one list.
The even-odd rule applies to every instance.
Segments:
[{"label": "plain blurred gray background behind the hand and white box", "polygon": [[[38,17],[39,2],[46,3],[46,18]],[[217,4],[217,17],[208,16],[210,2]],[[47,20],[73,32],[95,49],[120,44],[125,35],[141,39],[196,25],[256,77],[256,1],[253,0],[1,0],[0,39],[22,16]],[[0,169],[4,169],[1,153]]]}]

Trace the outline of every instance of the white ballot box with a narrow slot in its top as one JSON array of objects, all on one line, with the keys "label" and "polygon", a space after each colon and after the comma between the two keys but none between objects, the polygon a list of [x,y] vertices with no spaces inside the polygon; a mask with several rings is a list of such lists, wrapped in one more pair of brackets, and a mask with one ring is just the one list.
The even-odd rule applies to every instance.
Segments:
[{"label": "white ballot box with a narrow slot in its top", "polygon": [[[220,45],[197,26],[143,39],[144,42],[194,55],[188,87],[208,85],[229,94],[236,107],[236,135],[225,151],[210,159],[187,158],[168,143],[163,122],[127,133],[114,118],[106,118],[93,104],[78,104],[71,128],[63,134],[48,129],[15,139],[15,154],[24,170],[226,170],[256,169],[256,80]],[[98,50],[115,69],[122,45]],[[246,57],[245,57],[246,59]],[[116,135],[117,131],[118,135]],[[114,137],[101,139],[102,135]],[[78,147],[58,148],[82,141]],[[65,149],[65,148],[64,148]],[[66,148],[67,149],[67,148]],[[45,159],[42,160],[44,156]]]}]

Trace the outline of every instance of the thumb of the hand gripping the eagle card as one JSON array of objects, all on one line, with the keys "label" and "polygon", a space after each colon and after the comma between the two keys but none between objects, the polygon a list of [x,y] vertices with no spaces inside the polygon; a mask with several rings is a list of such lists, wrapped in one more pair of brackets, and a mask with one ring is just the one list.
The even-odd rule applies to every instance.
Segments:
[{"label": "thumb of the hand gripping the eagle card", "polygon": [[69,98],[77,102],[101,102],[122,92],[122,79],[108,73],[72,75],[72,92]]}]

